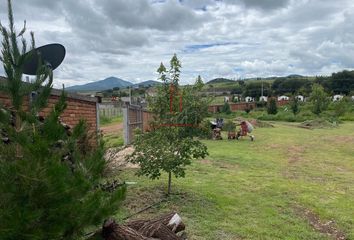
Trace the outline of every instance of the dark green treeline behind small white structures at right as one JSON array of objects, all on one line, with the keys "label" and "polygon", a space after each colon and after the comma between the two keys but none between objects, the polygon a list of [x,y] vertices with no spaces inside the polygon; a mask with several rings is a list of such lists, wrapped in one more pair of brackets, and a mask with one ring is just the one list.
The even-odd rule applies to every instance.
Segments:
[{"label": "dark green treeline behind small white structures at right", "polygon": [[[322,85],[328,94],[354,95],[354,71],[344,70],[331,76],[279,77],[275,80],[236,81],[231,94],[259,98],[263,96],[294,95],[309,96],[314,83]],[[263,89],[263,90],[262,90]]]}]

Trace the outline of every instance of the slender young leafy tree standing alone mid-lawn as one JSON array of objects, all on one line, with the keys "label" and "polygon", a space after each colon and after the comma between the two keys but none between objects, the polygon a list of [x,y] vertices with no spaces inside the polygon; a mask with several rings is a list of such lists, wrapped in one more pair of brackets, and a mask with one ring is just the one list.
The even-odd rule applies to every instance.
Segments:
[{"label": "slender young leafy tree standing alone mid-lawn", "polygon": [[202,134],[198,127],[208,113],[208,103],[200,97],[201,85],[179,86],[181,63],[174,55],[169,70],[161,63],[157,72],[163,81],[149,108],[155,119],[153,131],[139,133],[134,141],[135,150],[128,160],[138,163],[139,175],[158,179],[168,174],[167,193],[171,193],[172,175],[185,176],[185,167],[194,158],[207,155],[206,146],[194,138]]}]

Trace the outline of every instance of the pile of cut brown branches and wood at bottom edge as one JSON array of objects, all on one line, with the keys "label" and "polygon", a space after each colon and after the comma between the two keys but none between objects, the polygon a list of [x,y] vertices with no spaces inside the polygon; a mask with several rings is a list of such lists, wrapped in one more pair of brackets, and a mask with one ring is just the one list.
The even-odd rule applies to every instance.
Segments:
[{"label": "pile of cut brown branches and wood at bottom edge", "polygon": [[176,233],[183,231],[185,225],[177,213],[169,213],[152,220],[135,220],[117,224],[108,219],[102,227],[105,240],[182,240]]}]

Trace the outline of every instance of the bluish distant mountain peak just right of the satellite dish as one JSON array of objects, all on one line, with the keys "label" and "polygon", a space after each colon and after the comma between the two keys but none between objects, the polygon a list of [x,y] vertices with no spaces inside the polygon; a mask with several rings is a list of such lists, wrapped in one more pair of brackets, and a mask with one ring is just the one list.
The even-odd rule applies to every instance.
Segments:
[{"label": "bluish distant mountain peak just right of the satellite dish", "polygon": [[125,81],[116,77],[109,77],[104,80],[87,83],[84,85],[76,85],[66,88],[67,91],[103,91],[107,89],[112,89],[114,87],[125,88],[132,86],[131,82]]}]

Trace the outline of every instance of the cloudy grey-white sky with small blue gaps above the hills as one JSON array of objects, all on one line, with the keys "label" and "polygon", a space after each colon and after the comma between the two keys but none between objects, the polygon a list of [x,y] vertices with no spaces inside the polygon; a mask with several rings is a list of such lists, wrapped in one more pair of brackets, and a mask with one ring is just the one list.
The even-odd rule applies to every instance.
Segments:
[{"label": "cloudy grey-white sky with small blue gaps above the hills", "polygon": [[13,8],[37,46],[65,46],[56,86],[156,79],[174,53],[182,83],[354,68],[353,0],[13,0]]}]

